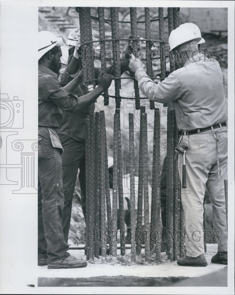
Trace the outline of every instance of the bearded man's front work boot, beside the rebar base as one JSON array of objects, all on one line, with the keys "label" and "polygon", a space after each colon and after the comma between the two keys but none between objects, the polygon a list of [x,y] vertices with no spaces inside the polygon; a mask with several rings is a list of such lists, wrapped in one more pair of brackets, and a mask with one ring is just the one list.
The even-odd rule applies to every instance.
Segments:
[{"label": "bearded man's front work boot, beside the rebar base", "polygon": [[47,264],[47,268],[78,268],[87,266],[86,261],[77,259],[72,255]]}]

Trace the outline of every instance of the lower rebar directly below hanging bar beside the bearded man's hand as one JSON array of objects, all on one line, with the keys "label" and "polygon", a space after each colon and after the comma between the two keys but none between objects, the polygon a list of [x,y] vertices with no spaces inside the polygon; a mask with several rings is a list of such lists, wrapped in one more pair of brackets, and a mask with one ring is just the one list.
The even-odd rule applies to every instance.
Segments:
[{"label": "lower rebar directly below hanging bar beside the bearded man's hand", "polygon": [[114,114],[114,167],[113,167],[113,207],[112,207],[112,255],[114,257],[117,256],[117,240],[116,240],[116,232],[117,232],[117,203],[118,203],[118,150],[117,150],[117,142],[118,142],[118,114]]}]

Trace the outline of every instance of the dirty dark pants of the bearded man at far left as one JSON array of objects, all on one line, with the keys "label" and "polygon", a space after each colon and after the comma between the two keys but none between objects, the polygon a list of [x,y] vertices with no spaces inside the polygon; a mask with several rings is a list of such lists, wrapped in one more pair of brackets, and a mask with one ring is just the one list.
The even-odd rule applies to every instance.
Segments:
[{"label": "dirty dark pants of the bearded man at far left", "polygon": [[51,140],[39,135],[43,148],[38,151],[38,258],[47,262],[69,256],[62,229],[64,205],[60,151]]}]

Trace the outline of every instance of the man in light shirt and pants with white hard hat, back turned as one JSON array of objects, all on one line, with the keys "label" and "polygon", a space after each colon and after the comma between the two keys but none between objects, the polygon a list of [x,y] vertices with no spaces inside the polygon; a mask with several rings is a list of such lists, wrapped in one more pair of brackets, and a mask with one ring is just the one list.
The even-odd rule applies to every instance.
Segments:
[{"label": "man in light shirt and pants with white hard hat, back turned", "polygon": [[182,24],[169,36],[170,51],[179,53],[179,68],[155,84],[139,59],[132,57],[140,90],[151,100],[171,101],[175,108],[180,142],[185,152],[187,189],[181,198],[185,212],[186,255],[181,266],[206,266],[203,247],[203,199],[207,187],[213,206],[213,228],[219,234],[218,252],[212,263],[227,264],[227,228],[224,180],[227,179],[227,106],[223,76],[216,60],[198,52],[197,37]]}]

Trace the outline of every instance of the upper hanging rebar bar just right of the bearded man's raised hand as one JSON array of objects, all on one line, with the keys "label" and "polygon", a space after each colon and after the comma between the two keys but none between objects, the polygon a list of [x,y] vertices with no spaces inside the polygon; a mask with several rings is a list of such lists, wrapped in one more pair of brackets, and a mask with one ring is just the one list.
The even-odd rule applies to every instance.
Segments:
[{"label": "upper hanging rebar bar just right of the bearded man's raised hand", "polygon": [[[118,17],[118,7],[110,7],[110,17],[111,17],[111,31],[112,39],[119,39],[119,17]],[[113,58],[114,58],[114,76],[121,76],[121,65],[120,65],[120,46],[119,40],[112,41],[113,45]],[[121,80],[115,80],[115,96],[116,96],[116,109],[121,107],[120,91]]]}]

